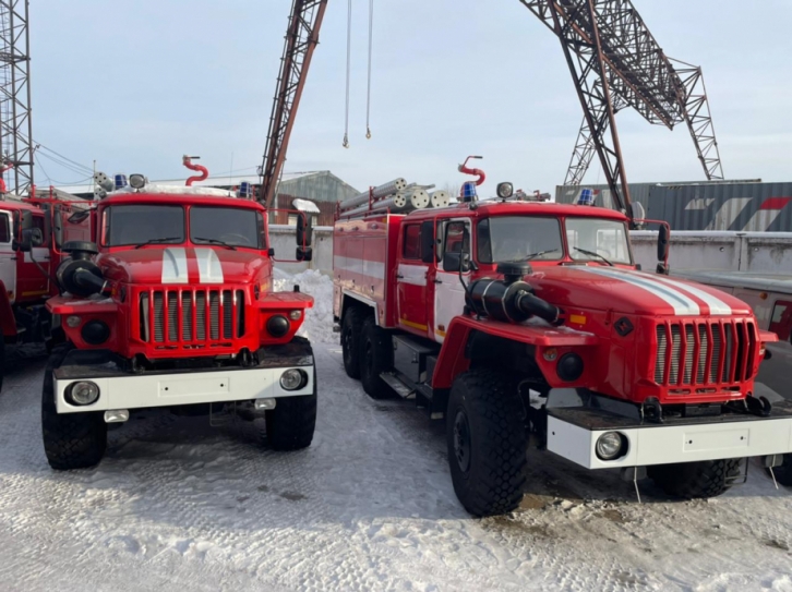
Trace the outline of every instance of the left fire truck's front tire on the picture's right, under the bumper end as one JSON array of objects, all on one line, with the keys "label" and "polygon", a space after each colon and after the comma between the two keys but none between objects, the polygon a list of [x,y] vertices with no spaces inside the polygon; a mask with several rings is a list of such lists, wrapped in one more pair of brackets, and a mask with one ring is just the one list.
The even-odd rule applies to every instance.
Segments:
[{"label": "left fire truck's front tire on the picture's right, under the bumper end", "polygon": [[316,427],[316,370],[312,395],[278,398],[275,409],[267,411],[264,419],[273,450],[301,450],[311,446]]}]

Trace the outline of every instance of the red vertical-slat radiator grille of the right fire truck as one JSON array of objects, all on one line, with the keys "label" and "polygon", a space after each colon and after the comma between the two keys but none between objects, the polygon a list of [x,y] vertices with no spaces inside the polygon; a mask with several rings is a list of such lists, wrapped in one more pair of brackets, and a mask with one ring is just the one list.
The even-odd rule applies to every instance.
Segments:
[{"label": "red vertical-slat radiator grille of the right fire truck", "polygon": [[752,376],[754,323],[662,323],[656,328],[655,382],[665,386],[734,384]]}]

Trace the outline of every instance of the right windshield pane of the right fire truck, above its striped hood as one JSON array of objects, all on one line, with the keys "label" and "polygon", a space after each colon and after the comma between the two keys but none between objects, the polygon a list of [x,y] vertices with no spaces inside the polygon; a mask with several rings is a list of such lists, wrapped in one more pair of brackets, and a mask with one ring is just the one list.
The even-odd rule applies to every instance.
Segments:
[{"label": "right windshield pane of the right fire truck, above its striped hood", "polygon": [[575,261],[601,261],[592,255],[597,253],[611,263],[633,263],[624,222],[597,218],[567,218],[566,240],[569,245],[569,256]]}]

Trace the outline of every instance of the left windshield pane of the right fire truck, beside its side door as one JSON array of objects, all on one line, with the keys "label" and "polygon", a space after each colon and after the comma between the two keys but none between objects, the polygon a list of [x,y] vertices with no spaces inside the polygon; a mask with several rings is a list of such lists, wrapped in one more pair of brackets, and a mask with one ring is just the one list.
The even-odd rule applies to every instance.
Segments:
[{"label": "left windshield pane of the right fire truck, beside its side door", "polygon": [[477,228],[480,263],[555,261],[563,254],[561,226],[555,218],[499,216]]}]

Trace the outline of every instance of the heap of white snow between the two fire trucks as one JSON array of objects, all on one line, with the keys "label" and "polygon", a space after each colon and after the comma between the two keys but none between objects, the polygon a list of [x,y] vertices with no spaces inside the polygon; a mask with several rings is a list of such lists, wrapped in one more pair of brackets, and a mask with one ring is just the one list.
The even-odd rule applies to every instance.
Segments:
[{"label": "heap of white snow between the two fire trucks", "polygon": [[295,276],[280,269],[274,271],[274,290],[291,291],[295,285],[300,291],[313,297],[313,309],[305,311],[305,321],[297,335],[315,343],[335,343],[338,336],[333,333],[333,280],[315,269],[305,269]]}]

